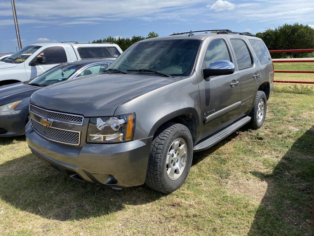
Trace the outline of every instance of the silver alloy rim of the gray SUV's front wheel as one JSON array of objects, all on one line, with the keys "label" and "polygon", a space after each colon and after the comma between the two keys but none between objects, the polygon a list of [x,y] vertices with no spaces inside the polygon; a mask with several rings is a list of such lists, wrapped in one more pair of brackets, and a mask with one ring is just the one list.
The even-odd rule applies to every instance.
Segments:
[{"label": "silver alloy rim of the gray SUV's front wheel", "polygon": [[170,145],[166,157],[166,173],[171,180],[176,180],[184,171],[187,160],[187,143],[177,138]]}]

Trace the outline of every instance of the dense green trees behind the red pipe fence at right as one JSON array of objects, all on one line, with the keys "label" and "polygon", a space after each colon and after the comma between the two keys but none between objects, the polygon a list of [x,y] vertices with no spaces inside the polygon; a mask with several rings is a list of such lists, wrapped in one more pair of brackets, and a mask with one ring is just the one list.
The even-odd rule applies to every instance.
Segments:
[{"label": "dense green trees behind the red pipe fence at right", "polygon": [[[295,23],[284,24],[274,29],[257,33],[269,50],[309,49],[314,48],[314,29],[309,25]],[[277,54],[277,53],[276,53]],[[307,57],[310,53],[278,53],[276,57]]]}]

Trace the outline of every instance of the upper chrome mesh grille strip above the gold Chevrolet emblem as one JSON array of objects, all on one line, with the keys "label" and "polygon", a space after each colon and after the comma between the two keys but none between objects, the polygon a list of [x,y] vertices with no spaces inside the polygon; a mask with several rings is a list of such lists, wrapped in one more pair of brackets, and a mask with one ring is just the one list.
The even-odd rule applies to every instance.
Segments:
[{"label": "upper chrome mesh grille strip above the gold Chevrolet emblem", "polygon": [[50,111],[50,110],[37,107],[33,104],[30,104],[30,112],[44,116],[46,118],[54,119],[56,121],[74,124],[74,125],[83,125],[83,120],[84,120],[84,117],[82,115],[73,115],[73,114],[67,114],[67,113],[62,113],[62,112],[57,112],[57,111]]}]

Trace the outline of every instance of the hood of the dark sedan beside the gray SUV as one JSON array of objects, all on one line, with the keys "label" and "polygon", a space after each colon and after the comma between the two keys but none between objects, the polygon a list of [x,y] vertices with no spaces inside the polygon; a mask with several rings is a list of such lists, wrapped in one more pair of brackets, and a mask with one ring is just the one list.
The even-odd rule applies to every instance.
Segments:
[{"label": "hood of the dark sedan beside the gray SUV", "polygon": [[22,82],[0,87],[0,100],[18,97],[27,93],[34,93],[41,87],[23,84]]}]

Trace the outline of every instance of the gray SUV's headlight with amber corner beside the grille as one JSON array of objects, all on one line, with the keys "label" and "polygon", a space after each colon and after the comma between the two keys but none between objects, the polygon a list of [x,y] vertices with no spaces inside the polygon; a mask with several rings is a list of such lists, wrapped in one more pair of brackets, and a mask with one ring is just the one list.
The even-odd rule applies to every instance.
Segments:
[{"label": "gray SUV's headlight with amber corner beside the grille", "polygon": [[121,143],[133,139],[135,114],[89,118],[88,143]]}]

